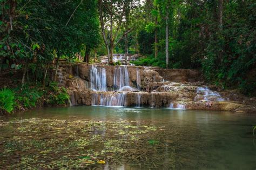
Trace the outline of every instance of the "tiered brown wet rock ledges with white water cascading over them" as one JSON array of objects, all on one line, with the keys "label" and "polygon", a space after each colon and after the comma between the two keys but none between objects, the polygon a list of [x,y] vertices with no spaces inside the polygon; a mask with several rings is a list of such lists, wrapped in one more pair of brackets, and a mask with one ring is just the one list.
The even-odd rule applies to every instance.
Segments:
[{"label": "tiered brown wet rock ledges with white water cascading over them", "polygon": [[219,91],[212,85],[206,86],[204,82],[195,81],[192,77],[197,77],[199,72],[193,70],[174,70],[177,82],[163,79],[171,74],[172,69],[167,69],[163,76],[159,75],[163,70],[151,70],[143,66],[76,64],[60,65],[59,70],[62,71],[59,73],[59,85],[68,87],[72,105],[170,107],[256,113],[256,99],[235,91]]}]

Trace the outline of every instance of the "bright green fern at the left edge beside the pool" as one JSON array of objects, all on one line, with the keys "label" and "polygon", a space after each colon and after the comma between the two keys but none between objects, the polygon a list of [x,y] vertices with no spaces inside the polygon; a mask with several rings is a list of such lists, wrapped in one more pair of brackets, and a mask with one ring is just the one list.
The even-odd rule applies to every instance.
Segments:
[{"label": "bright green fern at the left edge beside the pool", "polygon": [[11,113],[14,110],[14,91],[10,89],[3,88],[0,91],[0,108],[4,111]]}]

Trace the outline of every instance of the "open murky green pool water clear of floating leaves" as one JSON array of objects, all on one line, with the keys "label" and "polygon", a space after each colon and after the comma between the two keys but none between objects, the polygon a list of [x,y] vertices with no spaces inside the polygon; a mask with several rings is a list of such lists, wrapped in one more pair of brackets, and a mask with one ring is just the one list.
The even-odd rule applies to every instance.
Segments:
[{"label": "open murky green pool water clear of floating leaves", "polygon": [[[230,112],[170,110],[166,108],[131,108],[74,106],[68,108],[44,108],[10,115],[6,120],[48,118],[60,120],[127,121],[138,129],[142,126],[157,127],[142,139],[132,143],[129,149],[132,156],[138,157],[141,166],[163,164],[163,169],[255,169],[256,146],[252,136],[252,125],[256,117],[237,115]],[[102,139],[107,135],[103,130],[95,130]],[[127,134],[129,129],[120,127]],[[129,135],[118,136],[119,140],[129,140]],[[157,142],[156,145],[148,141]],[[132,152],[134,151],[134,152]],[[134,157],[135,157],[134,156]],[[140,159],[142,156],[143,159]],[[120,161],[127,158],[120,157]],[[146,161],[148,159],[150,161]],[[104,168],[109,169],[108,163]],[[119,169],[129,169],[124,163]],[[173,167],[172,167],[173,166]],[[137,166],[138,168],[138,166]]]}]

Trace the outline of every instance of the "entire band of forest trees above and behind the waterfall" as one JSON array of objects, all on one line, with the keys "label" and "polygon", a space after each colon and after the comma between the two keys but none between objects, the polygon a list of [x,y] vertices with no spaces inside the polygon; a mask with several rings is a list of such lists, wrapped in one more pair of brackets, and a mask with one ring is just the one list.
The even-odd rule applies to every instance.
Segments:
[{"label": "entire band of forest trees above and behind the waterfall", "polygon": [[22,70],[22,84],[26,73],[37,74],[30,81],[45,83],[53,60],[57,68],[59,59],[89,63],[95,62],[90,57],[106,55],[113,64],[113,53],[138,53],[136,65],[199,69],[223,89],[235,87],[248,95],[255,89],[255,1],[0,4],[0,70]]}]

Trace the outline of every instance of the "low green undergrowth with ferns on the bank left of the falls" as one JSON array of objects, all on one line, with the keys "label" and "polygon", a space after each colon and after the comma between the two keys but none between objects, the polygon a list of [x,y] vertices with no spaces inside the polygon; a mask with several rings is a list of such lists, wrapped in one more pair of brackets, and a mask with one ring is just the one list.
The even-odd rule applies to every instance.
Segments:
[{"label": "low green undergrowth with ferns on the bank left of the falls", "polygon": [[0,90],[0,113],[11,113],[44,105],[65,105],[69,94],[64,87],[51,82],[43,88],[42,84],[24,84],[15,89]]}]

